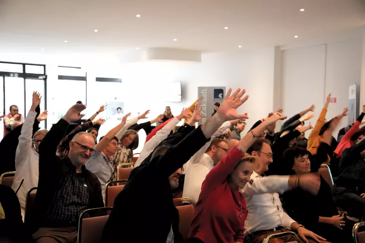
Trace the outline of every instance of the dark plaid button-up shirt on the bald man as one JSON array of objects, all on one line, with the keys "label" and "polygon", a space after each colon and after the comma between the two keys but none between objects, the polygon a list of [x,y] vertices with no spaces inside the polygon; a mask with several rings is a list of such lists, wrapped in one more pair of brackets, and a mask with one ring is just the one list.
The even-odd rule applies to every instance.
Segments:
[{"label": "dark plaid button-up shirt on the bald man", "polygon": [[45,221],[55,226],[76,226],[80,214],[89,206],[89,190],[86,185],[84,166],[82,173],[70,171],[60,182]]}]

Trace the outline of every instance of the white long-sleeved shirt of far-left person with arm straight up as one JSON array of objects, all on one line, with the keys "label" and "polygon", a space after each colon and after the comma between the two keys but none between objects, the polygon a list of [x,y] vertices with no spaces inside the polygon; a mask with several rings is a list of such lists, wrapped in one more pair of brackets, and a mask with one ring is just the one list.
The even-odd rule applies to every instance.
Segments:
[{"label": "white long-sleeved shirt of far-left person with arm straight up", "polygon": [[15,176],[11,188],[16,191],[24,179],[17,196],[22,210],[25,208],[25,198],[28,190],[38,185],[38,152],[33,148],[33,123],[36,112],[29,111],[19,136],[19,143],[15,152]]}]

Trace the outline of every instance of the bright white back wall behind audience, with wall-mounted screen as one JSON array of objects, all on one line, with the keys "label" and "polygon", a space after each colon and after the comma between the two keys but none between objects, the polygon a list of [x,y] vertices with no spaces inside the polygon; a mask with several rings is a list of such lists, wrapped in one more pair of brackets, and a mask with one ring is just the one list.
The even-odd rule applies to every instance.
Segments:
[{"label": "bright white back wall behind audience, with wall-mounted screen", "polygon": [[[121,64],[111,54],[13,54],[0,53],[0,61],[46,64],[48,128],[57,122],[58,65],[81,66],[87,71],[87,116],[101,104],[125,102],[125,111],[151,110],[150,118],[161,114],[166,105],[176,116],[198,98],[198,86],[245,88],[250,95],[239,112],[249,114],[247,126],[273,110],[274,48],[251,52],[204,54],[201,63],[138,62]],[[96,83],[95,77],[122,78],[122,84]],[[163,83],[182,82],[182,102],[165,103],[156,97]],[[111,88],[112,87],[112,88]],[[67,99],[67,97],[65,97]],[[62,105],[62,104],[61,104]],[[213,104],[212,104],[213,105]]]}]

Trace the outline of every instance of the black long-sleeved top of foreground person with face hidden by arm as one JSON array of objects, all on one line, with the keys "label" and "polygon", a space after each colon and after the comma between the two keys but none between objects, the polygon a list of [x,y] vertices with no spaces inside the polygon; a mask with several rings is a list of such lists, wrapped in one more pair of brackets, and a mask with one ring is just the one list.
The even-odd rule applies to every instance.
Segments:
[{"label": "black long-sleeved top of foreground person with face hidden by arm", "polygon": [[[184,124],[184,126],[188,126]],[[200,127],[189,133],[165,154],[133,169],[104,227],[101,243],[165,243],[172,227],[174,242],[182,242],[179,215],[172,201],[168,177],[181,168],[207,142]]]}]

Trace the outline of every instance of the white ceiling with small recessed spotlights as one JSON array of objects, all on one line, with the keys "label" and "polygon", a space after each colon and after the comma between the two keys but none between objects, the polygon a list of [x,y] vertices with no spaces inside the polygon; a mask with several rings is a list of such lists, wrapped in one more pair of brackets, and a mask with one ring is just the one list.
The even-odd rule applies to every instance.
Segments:
[{"label": "white ceiling with small recessed spotlights", "polygon": [[316,42],[361,26],[365,0],[0,0],[2,52],[234,51]]}]

